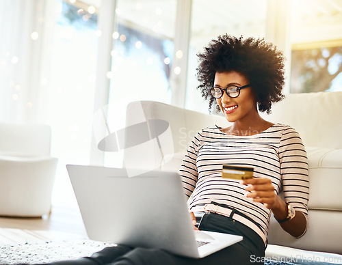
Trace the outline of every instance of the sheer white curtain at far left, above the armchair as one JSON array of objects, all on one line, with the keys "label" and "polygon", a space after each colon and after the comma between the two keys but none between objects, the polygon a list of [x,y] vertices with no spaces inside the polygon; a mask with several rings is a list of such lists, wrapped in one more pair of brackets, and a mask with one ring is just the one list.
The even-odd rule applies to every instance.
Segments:
[{"label": "sheer white curtain at far left, above the armchair", "polygon": [[44,122],[56,0],[0,1],[0,121]]}]

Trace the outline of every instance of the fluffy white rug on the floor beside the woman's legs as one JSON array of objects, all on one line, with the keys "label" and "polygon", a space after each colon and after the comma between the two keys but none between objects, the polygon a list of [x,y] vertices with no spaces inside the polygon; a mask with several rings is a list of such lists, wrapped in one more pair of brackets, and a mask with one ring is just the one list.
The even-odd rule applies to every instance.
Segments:
[{"label": "fluffy white rug on the floor beside the woman's legs", "polygon": [[85,236],[51,230],[0,228],[0,265],[75,260],[109,246]]}]

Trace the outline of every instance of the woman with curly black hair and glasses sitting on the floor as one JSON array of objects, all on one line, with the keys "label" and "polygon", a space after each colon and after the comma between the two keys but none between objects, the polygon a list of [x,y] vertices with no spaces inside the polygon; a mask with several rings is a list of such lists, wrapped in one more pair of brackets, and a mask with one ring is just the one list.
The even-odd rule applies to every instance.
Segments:
[{"label": "woman with curly black hair and glasses sitting on the floor", "polygon": [[[264,40],[224,35],[198,57],[202,96],[209,99],[209,109],[215,104],[224,113],[230,126],[201,130],[187,150],[180,175],[191,196],[194,229],[244,239],[199,260],[118,246],[55,264],[263,264],[272,212],[292,236],[306,232],[308,163],[302,140],[290,126],[259,115],[283,98],[282,53]],[[223,165],[253,167],[254,178],[222,178]],[[278,196],[280,189],[285,200]]]}]

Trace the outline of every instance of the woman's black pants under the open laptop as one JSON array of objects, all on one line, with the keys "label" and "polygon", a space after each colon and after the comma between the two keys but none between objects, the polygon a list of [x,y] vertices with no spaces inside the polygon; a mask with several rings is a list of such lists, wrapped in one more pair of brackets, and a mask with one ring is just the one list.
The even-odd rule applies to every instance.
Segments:
[{"label": "woman's black pants under the open laptop", "polygon": [[118,247],[107,247],[94,253],[91,257],[53,262],[49,265],[245,265],[258,264],[255,261],[262,259],[257,259],[257,257],[265,255],[265,244],[260,236],[246,225],[233,221],[228,217],[206,213],[202,216],[198,228],[212,232],[241,235],[244,236],[244,240],[201,259],[181,257],[160,249],[144,249],[140,247],[132,249],[131,247],[118,245]]}]

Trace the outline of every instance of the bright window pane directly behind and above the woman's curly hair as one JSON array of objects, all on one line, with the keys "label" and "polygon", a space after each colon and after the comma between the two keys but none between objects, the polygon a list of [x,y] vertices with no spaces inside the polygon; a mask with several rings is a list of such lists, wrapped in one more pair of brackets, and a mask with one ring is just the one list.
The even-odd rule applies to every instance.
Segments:
[{"label": "bright window pane directly behind and above the woman's curly hair", "polygon": [[[248,10],[246,10],[248,6]],[[196,89],[196,68],[198,52],[209,44],[210,40],[228,33],[231,36],[265,37],[266,0],[236,1],[212,0],[192,2],[192,30],[189,44],[189,67],[187,79],[186,108],[208,113],[208,104],[204,102],[200,91]],[[215,111],[214,111],[215,113]]]}]

